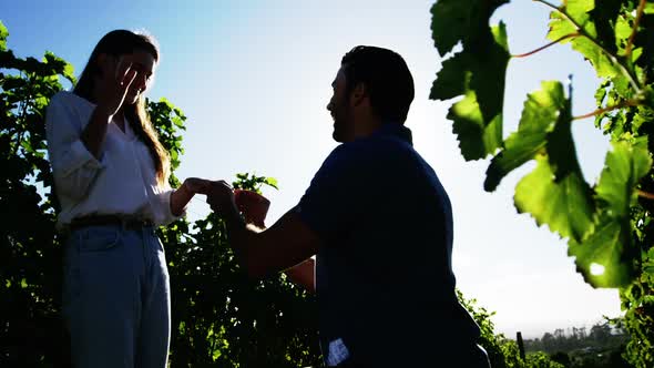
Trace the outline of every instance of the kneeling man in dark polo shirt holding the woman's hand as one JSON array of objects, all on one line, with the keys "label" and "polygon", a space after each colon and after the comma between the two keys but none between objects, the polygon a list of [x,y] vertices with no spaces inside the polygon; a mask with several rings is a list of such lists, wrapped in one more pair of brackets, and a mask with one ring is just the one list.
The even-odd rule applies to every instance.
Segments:
[{"label": "kneeling man in dark polo shirt holding the woman's hand", "polygon": [[315,279],[327,366],[489,367],[454,293],[450,201],[403,126],[413,100],[407,64],[356,47],[331,85],[327,110],[343,144],[296,207],[257,232],[227,183],[208,190],[241,265],[254,278],[286,270],[309,289]]}]

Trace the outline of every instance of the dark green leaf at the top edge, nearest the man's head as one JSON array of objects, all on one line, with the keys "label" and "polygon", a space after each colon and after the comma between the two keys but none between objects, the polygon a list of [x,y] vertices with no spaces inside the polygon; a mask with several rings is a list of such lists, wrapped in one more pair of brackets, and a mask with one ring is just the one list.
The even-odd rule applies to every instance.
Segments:
[{"label": "dark green leaf at the top edge, nearest the man's head", "polygon": [[[489,19],[509,0],[438,0],[431,7],[433,43],[442,57],[463,42],[466,47],[488,32]],[[481,34],[481,37],[480,37]]]}]

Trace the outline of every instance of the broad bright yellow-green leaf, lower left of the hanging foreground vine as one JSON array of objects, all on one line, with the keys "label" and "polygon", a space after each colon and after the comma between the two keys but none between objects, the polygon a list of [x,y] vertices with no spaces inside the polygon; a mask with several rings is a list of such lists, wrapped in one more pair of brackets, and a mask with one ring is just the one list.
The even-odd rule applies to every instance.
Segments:
[{"label": "broad bright yellow-green leaf, lower left of the hanging foreground vine", "polygon": [[545,155],[537,156],[537,168],[515,186],[515,208],[530,213],[539,226],[548,224],[561,237],[581,239],[592,225],[589,185],[580,172],[556,177]]}]

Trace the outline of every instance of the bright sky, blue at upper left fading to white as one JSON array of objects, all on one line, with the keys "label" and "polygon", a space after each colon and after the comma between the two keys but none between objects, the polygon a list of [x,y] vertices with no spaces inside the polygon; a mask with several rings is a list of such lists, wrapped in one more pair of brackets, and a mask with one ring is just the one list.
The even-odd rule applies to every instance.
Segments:
[{"label": "bright sky, blue at upper left fading to white", "polygon": [[[452,202],[452,263],[464,296],[495,311],[495,330],[510,338],[517,331],[540,337],[619,316],[617,290],[586,285],[568,257],[565,242],[515,212],[514,186],[534,163],[487,193],[490,157],[462,159],[446,119],[452,101],[428,98],[443,60],[431,40],[433,2],[2,0],[0,20],[18,57],[41,58],[49,50],[71,62],[78,75],[104,33],[130,29],[153,34],[162,58],[149,96],[165,96],[187,116],[177,176],[232,181],[236,173],[249,172],[277,178],[279,191],[263,188],[272,202],[268,225],[298,202],[337,145],[326,105],[343,54],[357,44],[395,50],[416,82],[406,125]],[[498,9],[491,23],[507,24],[510,51],[519,54],[548,42],[548,17],[549,9],[540,3],[512,0]],[[573,114],[593,111],[599,80],[569,44],[511,60],[504,136],[517,129],[527,93],[541,81],[565,81],[569,75]],[[607,137],[593,120],[575,121],[573,135],[583,174],[595,183]],[[208,211],[200,196],[187,216],[204,217]]]}]

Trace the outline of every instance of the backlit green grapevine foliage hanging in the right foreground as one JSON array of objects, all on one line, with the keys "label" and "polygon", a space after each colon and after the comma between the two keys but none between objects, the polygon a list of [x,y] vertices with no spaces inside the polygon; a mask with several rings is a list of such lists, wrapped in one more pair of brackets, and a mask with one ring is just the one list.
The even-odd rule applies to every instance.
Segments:
[{"label": "backlit green grapevine foliage hanging in the right foreground", "polygon": [[[529,161],[535,168],[517,185],[519,213],[568,239],[569,255],[593,287],[617,287],[633,336],[626,357],[654,365],[654,3],[646,0],[564,0],[546,6],[548,45],[511,55],[503,23],[490,25],[505,0],[438,0],[432,38],[442,62],[430,98],[460,98],[449,110],[466,160],[492,156],[484,190]],[[597,110],[572,115],[572,83],[544,81],[529,93],[518,131],[502,139],[504,78],[509,61],[555,43],[570,43],[601,79]],[[483,57],[482,57],[483,55]],[[562,63],[564,65],[565,63]],[[571,133],[574,121],[594,117],[612,150],[596,183],[586,183]]]}]

